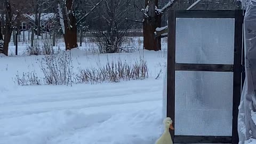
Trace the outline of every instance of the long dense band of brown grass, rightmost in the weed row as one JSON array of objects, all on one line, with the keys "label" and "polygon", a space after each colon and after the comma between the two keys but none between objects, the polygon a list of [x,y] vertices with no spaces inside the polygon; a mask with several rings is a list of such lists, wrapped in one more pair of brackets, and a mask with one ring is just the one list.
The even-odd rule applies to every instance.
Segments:
[{"label": "long dense band of brown grass, rightmost in the weed row", "polygon": [[98,69],[79,69],[76,75],[77,83],[100,83],[100,82],[119,82],[130,79],[145,79],[148,77],[147,62],[144,60],[136,61],[133,65],[118,60],[117,62],[107,62],[104,67]]}]

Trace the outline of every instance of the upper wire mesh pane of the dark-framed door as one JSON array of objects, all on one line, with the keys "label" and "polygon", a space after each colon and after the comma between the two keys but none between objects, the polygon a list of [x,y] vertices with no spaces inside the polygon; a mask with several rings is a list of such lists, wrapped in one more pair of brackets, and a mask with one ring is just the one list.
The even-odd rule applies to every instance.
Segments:
[{"label": "upper wire mesh pane of the dark-framed door", "polygon": [[235,19],[177,18],[176,62],[234,63]]}]

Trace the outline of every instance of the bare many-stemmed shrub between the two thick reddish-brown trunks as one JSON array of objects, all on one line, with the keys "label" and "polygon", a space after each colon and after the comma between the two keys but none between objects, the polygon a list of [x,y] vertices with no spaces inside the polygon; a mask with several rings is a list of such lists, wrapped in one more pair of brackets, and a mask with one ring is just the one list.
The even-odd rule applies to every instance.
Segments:
[{"label": "bare many-stemmed shrub between the two thick reddish-brown trunks", "polygon": [[133,22],[127,21],[132,13],[131,0],[104,0],[98,7],[97,44],[101,53],[125,51],[121,48],[124,35]]}]

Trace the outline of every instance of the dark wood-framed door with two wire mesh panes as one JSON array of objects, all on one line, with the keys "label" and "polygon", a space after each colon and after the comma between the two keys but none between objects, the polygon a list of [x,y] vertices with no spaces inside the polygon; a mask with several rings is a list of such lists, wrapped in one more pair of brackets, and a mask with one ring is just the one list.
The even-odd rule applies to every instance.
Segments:
[{"label": "dark wood-framed door with two wire mesh panes", "polygon": [[238,142],[242,19],[239,10],[170,11],[163,111],[174,143]]}]

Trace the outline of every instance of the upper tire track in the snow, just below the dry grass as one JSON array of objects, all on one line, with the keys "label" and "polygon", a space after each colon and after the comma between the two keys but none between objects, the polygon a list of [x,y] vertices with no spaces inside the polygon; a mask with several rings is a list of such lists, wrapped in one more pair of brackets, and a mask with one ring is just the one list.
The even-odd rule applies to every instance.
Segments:
[{"label": "upper tire track in the snow, just below the dry grass", "polygon": [[[128,95],[128,94],[145,94],[145,91],[147,92],[155,92],[159,90],[159,86],[153,86],[150,87],[150,89],[147,88],[140,88],[138,89],[138,87],[133,87],[132,89],[116,89],[115,93],[111,93],[113,92],[113,90],[99,90],[99,91],[81,91],[81,92],[74,92],[74,91],[70,91],[68,93],[66,92],[59,92],[59,93],[44,93],[44,94],[33,94],[31,95],[30,98],[27,97],[15,97],[15,95],[12,95],[12,97],[14,97],[13,99],[11,99],[11,101],[9,102],[4,102],[1,101],[0,102],[0,108],[1,106],[14,106],[14,105],[29,105],[32,103],[42,103],[42,102],[57,102],[57,101],[69,101],[69,100],[80,100],[80,99],[92,99],[92,98],[110,98],[110,97],[117,97],[119,95]],[[71,96],[70,95],[74,95]],[[41,99],[38,99],[41,98]],[[10,100],[10,99],[9,99]]]}]

